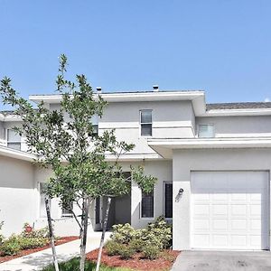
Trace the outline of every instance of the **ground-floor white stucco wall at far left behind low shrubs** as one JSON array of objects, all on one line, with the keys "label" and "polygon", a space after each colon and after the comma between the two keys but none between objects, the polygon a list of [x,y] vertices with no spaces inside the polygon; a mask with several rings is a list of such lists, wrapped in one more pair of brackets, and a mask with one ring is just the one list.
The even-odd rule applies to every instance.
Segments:
[{"label": "ground-floor white stucco wall at far left behind low shrubs", "polygon": [[3,234],[9,236],[35,220],[33,165],[0,156],[0,173],[0,221],[5,222]]}]

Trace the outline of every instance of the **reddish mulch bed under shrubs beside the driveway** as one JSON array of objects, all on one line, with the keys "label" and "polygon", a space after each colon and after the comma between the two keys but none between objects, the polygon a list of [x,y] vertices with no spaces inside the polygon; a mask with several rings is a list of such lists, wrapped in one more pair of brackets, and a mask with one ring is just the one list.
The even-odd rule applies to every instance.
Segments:
[{"label": "reddish mulch bed under shrubs beside the driveway", "polygon": [[[107,266],[126,267],[133,270],[169,270],[179,254],[180,251],[166,249],[162,252],[162,257],[154,260],[143,259],[140,253],[136,253],[131,259],[123,260],[118,256],[107,256],[105,249],[103,249],[101,262]],[[97,261],[97,257],[98,249],[87,254],[87,259],[90,261]]]}]

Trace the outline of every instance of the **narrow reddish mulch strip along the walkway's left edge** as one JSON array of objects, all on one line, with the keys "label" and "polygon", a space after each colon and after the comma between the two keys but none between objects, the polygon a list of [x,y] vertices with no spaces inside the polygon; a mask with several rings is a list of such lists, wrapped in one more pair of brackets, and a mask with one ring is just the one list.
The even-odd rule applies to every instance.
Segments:
[{"label": "narrow reddish mulch strip along the walkway's left edge", "polygon": [[[59,238],[59,239],[57,239],[55,241],[55,246],[65,244],[65,243],[68,243],[70,241],[74,241],[76,239],[79,239],[79,237],[78,236],[62,237],[62,238]],[[23,257],[23,256],[26,256],[26,255],[32,254],[34,252],[44,250],[46,248],[51,248],[50,244],[48,244],[48,245],[46,245],[46,246],[44,246],[42,248],[24,249],[24,250],[21,250],[17,255],[14,255],[14,256],[1,256],[1,252],[0,252],[0,264],[4,263],[6,261],[12,260],[14,258],[17,258],[17,257]]]}]

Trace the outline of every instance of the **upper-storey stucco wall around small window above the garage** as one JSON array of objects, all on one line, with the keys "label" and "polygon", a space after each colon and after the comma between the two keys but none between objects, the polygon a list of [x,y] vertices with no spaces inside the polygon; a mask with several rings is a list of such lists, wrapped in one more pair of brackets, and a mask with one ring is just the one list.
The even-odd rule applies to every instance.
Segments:
[{"label": "upper-storey stucco wall around small window above the garage", "polygon": [[270,116],[196,117],[196,123],[213,124],[216,137],[271,135]]}]

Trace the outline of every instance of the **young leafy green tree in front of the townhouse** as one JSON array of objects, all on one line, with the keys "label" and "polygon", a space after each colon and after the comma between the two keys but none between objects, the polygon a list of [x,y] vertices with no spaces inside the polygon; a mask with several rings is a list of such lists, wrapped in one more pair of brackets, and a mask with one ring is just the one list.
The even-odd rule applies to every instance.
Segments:
[{"label": "young leafy green tree in front of the townhouse", "polygon": [[[14,127],[26,137],[28,151],[36,154],[34,161],[42,167],[51,168],[52,176],[46,193],[50,198],[61,198],[63,207],[76,202],[81,210],[80,266],[84,270],[89,219],[89,204],[100,196],[108,197],[108,210],[112,196],[129,192],[129,185],[118,160],[134,148],[134,145],[117,141],[114,130],[98,135],[92,117],[102,117],[107,102],[96,95],[84,75],[76,75],[75,82],[65,79],[67,57],[60,57],[60,74],[57,77],[57,92],[61,95],[61,106],[50,110],[41,102],[37,108],[20,98],[11,86],[11,79],[1,80],[0,93],[5,104],[15,107],[14,114],[22,117],[21,127]],[[107,154],[115,160],[107,161]],[[150,192],[156,179],[145,176],[142,167],[131,167],[133,182],[144,192]],[[49,218],[50,222],[51,218]],[[104,218],[104,229],[107,217]],[[101,238],[103,246],[104,232]],[[100,249],[101,250],[101,249]]]}]

